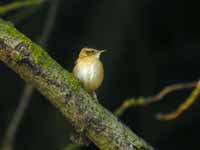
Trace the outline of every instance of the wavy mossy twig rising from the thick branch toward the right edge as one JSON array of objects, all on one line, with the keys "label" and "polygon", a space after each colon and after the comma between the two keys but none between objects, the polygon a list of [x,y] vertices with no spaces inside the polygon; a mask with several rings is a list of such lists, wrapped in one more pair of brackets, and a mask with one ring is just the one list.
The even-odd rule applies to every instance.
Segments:
[{"label": "wavy mossy twig rising from the thick branch toward the right edge", "polygon": [[158,101],[162,100],[167,94],[169,94],[171,92],[194,88],[194,87],[196,87],[197,83],[198,83],[197,81],[194,81],[194,82],[189,82],[189,83],[172,84],[172,85],[166,86],[165,88],[163,88],[160,92],[158,92],[154,96],[139,97],[139,98],[136,98],[136,99],[135,98],[127,99],[122,103],[121,106],[119,106],[115,110],[114,113],[117,116],[121,116],[124,113],[124,111],[126,109],[128,109],[129,107],[144,106],[144,105],[148,105],[148,104],[151,104],[151,103],[158,102]]}]

